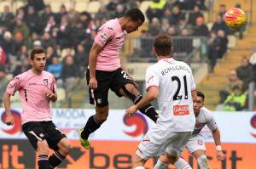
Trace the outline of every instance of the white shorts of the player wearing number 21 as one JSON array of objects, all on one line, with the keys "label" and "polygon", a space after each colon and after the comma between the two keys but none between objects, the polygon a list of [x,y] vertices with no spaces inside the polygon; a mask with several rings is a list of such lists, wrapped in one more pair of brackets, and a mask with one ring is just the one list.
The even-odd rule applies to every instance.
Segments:
[{"label": "white shorts of the player wearing number 21", "polygon": [[147,132],[137,148],[137,155],[143,160],[162,155],[180,156],[187,144],[191,132],[165,132],[154,128]]}]

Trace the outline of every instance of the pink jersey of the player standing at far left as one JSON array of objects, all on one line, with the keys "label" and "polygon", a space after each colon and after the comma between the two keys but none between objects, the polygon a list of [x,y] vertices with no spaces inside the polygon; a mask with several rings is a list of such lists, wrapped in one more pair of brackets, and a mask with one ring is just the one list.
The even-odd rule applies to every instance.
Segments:
[{"label": "pink jersey of the player standing at far left", "polygon": [[55,93],[56,82],[54,76],[47,71],[37,75],[32,70],[27,70],[9,82],[6,92],[11,95],[16,91],[20,93],[22,124],[28,121],[52,120],[49,99],[45,95],[48,90]]}]

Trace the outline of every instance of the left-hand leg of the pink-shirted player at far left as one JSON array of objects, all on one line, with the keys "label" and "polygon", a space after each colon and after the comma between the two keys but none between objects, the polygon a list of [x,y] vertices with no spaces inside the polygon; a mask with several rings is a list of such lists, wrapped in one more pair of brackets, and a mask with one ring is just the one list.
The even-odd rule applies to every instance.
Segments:
[{"label": "left-hand leg of the pink-shirted player at far left", "polygon": [[22,125],[22,131],[26,138],[32,144],[32,147],[38,151],[38,167],[39,169],[49,169],[49,145],[46,141],[44,129],[40,122],[30,121]]}]

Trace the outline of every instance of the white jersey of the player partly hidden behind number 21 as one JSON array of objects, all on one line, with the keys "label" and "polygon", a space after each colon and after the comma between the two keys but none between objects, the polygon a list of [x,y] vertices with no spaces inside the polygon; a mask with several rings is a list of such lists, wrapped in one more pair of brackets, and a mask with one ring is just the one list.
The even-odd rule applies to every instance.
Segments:
[{"label": "white jersey of the player partly hidden behind number 21", "polygon": [[195,118],[195,129],[192,133],[192,137],[195,135],[202,136],[201,129],[206,125],[211,131],[217,128],[217,124],[212,115],[212,112],[207,110],[207,108],[202,107],[199,115]]}]

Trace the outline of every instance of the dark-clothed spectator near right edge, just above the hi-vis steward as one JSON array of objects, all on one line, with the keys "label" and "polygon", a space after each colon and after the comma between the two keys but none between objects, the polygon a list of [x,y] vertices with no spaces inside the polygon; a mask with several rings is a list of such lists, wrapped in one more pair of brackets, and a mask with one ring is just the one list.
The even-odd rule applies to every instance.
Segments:
[{"label": "dark-clothed spectator near right edge, just above the hi-vis steward", "polygon": [[242,91],[245,92],[250,82],[253,82],[253,66],[250,65],[249,60],[246,57],[241,59],[241,66],[236,68],[236,74],[243,82]]}]

